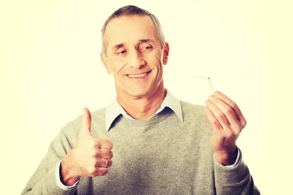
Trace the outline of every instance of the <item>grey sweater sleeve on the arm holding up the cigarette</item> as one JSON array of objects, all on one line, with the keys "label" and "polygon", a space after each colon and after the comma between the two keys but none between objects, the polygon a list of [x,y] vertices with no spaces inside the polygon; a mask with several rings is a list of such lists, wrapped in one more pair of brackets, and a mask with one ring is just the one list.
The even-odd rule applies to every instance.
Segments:
[{"label": "grey sweater sleeve on the arm holding up the cigarette", "polygon": [[215,187],[217,195],[260,195],[250,171],[242,159],[242,153],[235,167],[225,167],[213,155]]}]

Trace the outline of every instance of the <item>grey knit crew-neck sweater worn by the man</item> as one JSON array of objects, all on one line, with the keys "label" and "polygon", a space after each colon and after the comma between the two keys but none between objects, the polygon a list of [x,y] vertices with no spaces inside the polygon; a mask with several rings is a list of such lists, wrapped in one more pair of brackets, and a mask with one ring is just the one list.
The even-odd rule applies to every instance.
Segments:
[{"label": "grey knit crew-neck sweater worn by the man", "polygon": [[180,103],[183,122],[166,107],[148,119],[119,115],[108,132],[105,107],[91,112],[91,134],[113,143],[113,164],[107,175],[81,177],[76,187],[63,190],[56,183],[56,164],[74,147],[83,116],[70,121],[21,195],[259,195],[240,149],[234,168],[215,159],[204,106]]}]

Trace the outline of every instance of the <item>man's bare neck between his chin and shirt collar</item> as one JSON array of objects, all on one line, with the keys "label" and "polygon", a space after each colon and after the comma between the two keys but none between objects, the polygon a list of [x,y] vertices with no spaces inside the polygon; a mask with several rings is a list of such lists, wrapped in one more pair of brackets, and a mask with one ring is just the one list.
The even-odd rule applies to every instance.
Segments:
[{"label": "man's bare neck between his chin and shirt collar", "polygon": [[159,87],[149,97],[133,99],[125,94],[118,93],[117,101],[126,113],[134,119],[141,120],[153,116],[162,105],[166,97],[163,80]]}]

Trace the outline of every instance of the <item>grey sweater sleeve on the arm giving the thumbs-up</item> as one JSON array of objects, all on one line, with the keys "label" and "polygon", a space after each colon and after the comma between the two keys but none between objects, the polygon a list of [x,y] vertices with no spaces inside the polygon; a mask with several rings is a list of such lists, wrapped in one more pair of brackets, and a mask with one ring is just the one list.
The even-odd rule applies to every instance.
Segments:
[{"label": "grey sweater sleeve on the arm giving the thumbs-up", "polygon": [[51,141],[48,151],[21,195],[76,195],[77,186],[64,190],[57,185],[56,168],[60,160],[72,149],[63,129]]}]

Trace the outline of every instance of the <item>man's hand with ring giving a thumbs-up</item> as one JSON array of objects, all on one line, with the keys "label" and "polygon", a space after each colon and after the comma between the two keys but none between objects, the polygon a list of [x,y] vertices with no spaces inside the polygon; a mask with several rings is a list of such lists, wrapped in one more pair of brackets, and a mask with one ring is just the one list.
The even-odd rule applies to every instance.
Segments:
[{"label": "man's hand with ring giving a thumbs-up", "polygon": [[90,112],[87,108],[83,111],[82,127],[76,145],[61,162],[60,179],[65,186],[72,186],[81,176],[105,176],[112,165],[112,142],[92,137]]}]

